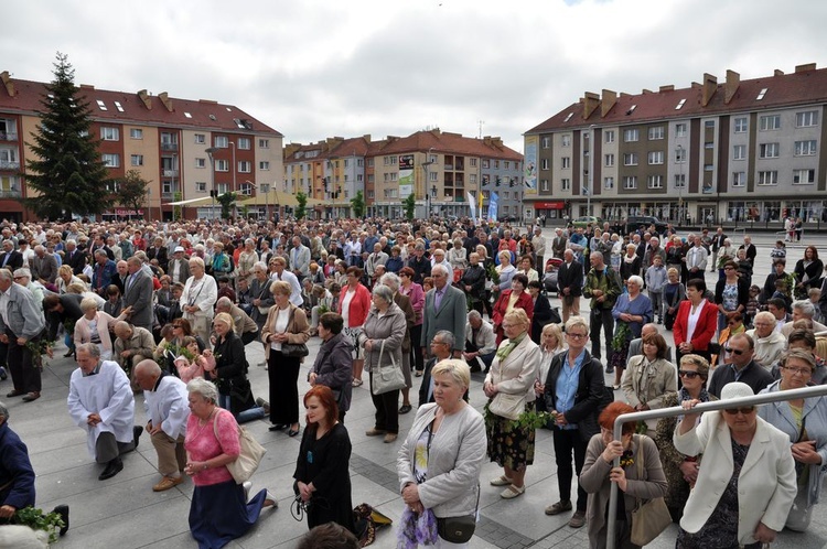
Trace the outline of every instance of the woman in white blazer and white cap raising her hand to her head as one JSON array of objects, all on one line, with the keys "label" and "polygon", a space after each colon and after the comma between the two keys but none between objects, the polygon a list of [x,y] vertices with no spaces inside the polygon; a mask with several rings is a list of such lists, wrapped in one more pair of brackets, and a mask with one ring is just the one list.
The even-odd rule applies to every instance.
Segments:
[{"label": "woman in white blazer and white cap raising her hand to her head", "polygon": [[[732,381],[721,400],[752,396]],[[698,400],[683,402],[690,410]],[[676,548],[761,547],[784,528],[797,492],[790,438],[758,417],[755,407],[687,413],[673,439],[685,455],[704,454],[684,508]]]}]

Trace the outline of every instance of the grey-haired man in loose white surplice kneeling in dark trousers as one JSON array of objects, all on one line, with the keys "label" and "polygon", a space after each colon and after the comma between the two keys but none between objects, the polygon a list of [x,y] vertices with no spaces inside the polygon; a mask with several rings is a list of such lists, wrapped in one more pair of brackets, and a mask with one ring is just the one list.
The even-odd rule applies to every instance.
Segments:
[{"label": "grey-haired man in loose white surplice kneeling in dark trousers", "polygon": [[77,368],[69,379],[68,411],[86,431],[89,454],[106,463],[98,480],[106,481],[123,469],[121,454],[138,446],[142,427],[133,427],[135,397],[129,378],[118,363],[100,359],[94,343],[77,347]]}]

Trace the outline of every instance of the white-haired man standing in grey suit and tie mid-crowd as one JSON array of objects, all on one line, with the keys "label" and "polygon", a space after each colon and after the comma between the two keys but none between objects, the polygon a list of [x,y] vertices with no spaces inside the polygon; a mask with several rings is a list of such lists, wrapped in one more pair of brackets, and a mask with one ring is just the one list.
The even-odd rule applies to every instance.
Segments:
[{"label": "white-haired man standing in grey suit and tie mid-crowd", "polygon": [[[428,354],[428,346],[440,330],[448,330],[452,334],[465,333],[465,315],[468,314],[465,293],[449,284],[448,277],[448,269],[443,265],[434,265],[431,269],[433,288],[425,297],[422,337],[419,342],[423,355]],[[454,341],[454,358],[460,358],[463,349],[464,342]]]}]

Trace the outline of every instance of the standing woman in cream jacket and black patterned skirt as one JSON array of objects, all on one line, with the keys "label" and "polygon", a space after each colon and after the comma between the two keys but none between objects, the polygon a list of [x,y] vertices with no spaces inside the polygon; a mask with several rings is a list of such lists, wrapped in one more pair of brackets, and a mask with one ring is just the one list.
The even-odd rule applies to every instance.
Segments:
[{"label": "standing woman in cream jacket and black patterned skirt", "polygon": [[[523,309],[505,313],[502,327],[507,340],[500,344],[483,384],[483,391],[491,399],[485,420],[488,456],[504,470],[491,484],[505,486],[500,494],[504,499],[525,493],[526,467],[534,463],[534,428],[520,427],[516,421],[523,412],[534,410],[534,380],[543,356],[528,335],[530,325]],[[497,410],[507,408],[512,417],[494,413],[492,406],[498,405],[502,406]]]}]

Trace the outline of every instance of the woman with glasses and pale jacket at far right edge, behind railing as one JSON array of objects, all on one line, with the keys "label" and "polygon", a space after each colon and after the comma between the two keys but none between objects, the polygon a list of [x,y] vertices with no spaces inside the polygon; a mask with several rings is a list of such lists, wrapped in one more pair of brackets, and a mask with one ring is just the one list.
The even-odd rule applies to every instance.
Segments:
[{"label": "woman with glasses and pale jacket at far right edge, behind railing", "polygon": [[[781,379],[761,392],[806,387],[812,384],[815,370],[813,353],[801,348],[787,351],[781,359]],[[827,397],[770,402],[761,407],[759,417],[790,438],[798,494],[784,526],[804,531],[821,492],[821,465],[827,463]]]}]

